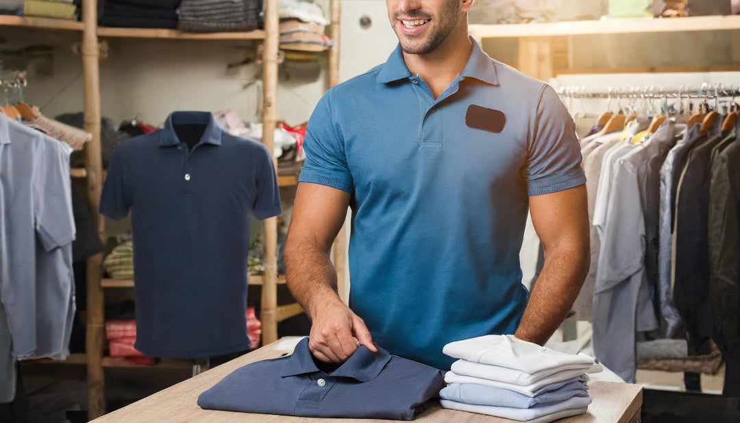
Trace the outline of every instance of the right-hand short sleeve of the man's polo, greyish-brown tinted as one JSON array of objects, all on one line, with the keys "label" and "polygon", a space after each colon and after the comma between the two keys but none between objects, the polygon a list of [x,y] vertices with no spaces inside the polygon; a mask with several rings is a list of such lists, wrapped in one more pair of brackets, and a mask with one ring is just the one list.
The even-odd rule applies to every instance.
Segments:
[{"label": "right-hand short sleeve of the man's polo, greyish-brown tinted", "polygon": [[576,124],[548,84],[537,104],[524,177],[530,196],[567,190],[586,181]]}]

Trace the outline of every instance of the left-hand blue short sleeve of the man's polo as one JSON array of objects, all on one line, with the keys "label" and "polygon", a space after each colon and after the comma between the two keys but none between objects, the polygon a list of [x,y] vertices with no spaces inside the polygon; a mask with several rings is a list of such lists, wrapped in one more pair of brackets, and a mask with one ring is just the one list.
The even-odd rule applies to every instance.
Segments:
[{"label": "left-hand blue short sleeve of the man's polo", "polygon": [[300,182],[322,184],[351,193],[354,188],[344,152],[332,119],[331,91],[319,101],[306,125],[303,149],[306,161],[300,170]]}]

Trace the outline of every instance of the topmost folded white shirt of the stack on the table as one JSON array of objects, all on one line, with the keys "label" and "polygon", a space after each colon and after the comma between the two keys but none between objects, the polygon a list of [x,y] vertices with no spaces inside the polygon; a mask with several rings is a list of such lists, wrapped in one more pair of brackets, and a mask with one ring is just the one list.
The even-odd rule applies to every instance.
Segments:
[{"label": "topmost folded white shirt of the stack on the table", "polygon": [[513,335],[485,335],[463,339],[446,344],[442,351],[455,359],[508,367],[528,374],[573,364],[584,366],[594,364],[593,358],[583,353],[577,355],[561,353],[522,341]]}]

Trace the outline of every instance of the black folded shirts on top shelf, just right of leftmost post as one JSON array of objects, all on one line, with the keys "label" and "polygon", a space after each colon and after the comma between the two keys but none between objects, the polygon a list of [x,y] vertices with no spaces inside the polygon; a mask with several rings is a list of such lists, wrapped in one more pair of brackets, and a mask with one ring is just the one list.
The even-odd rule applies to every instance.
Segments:
[{"label": "black folded shirts on top shelf, just right of leftmost post", "polygon": [[98,0],[104,27],[175,28],[180,0]]}]

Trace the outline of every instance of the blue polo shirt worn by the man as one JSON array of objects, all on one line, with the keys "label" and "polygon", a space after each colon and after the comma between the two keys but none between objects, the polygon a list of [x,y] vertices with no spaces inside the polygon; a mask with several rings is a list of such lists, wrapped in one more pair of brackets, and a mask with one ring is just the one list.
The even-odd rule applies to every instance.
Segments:
[{"label": "blue polo shirt worn by the man", "polygon": [[351,193],[351,309],[390,353],[440,369],[446,343],[517,330],[528,196],[585,182],[553,88],[473,44],[437,99],[400,47],[329,90],[300,174]]}]

